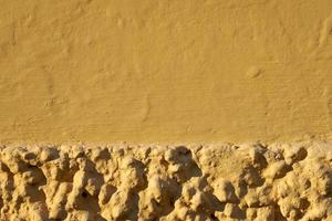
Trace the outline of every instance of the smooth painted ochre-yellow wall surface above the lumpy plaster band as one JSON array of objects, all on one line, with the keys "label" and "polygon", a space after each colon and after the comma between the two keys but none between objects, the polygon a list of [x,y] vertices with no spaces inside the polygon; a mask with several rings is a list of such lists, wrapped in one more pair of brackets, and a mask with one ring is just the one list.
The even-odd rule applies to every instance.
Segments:
[{"label": "smooth painted ochre-yellow wall surface above the lumpy plaster band", "polygon": [[0,2],[2,141],[331,135],[331,0]]}]

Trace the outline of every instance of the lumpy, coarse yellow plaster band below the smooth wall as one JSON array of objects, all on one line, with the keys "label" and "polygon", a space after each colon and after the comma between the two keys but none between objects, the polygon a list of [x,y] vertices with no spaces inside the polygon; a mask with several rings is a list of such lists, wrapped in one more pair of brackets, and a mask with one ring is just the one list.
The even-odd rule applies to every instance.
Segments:
[{"label": "lumpy, coarse yellow plaster band below the smooth wall", "polygon": [[331,220],[332,144],[1,147],[1,220]]}]

